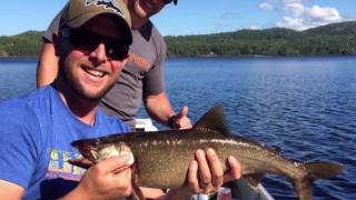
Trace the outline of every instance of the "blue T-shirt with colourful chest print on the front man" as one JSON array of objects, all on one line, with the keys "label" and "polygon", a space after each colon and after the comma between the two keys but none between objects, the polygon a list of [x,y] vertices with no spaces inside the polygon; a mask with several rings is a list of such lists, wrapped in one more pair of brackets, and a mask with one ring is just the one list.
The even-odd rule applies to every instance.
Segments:
[{"label": "blue T-shirt with colourful chest print on the front man", "polygon": [[23,187],[23,199],[56,199],[77,186],[85,170],[68,162],[80,156],[71,141],[129,131],[100,108],[93,126],[83,123],[52,84],[1,101],[0,118],[0,179]]}]

